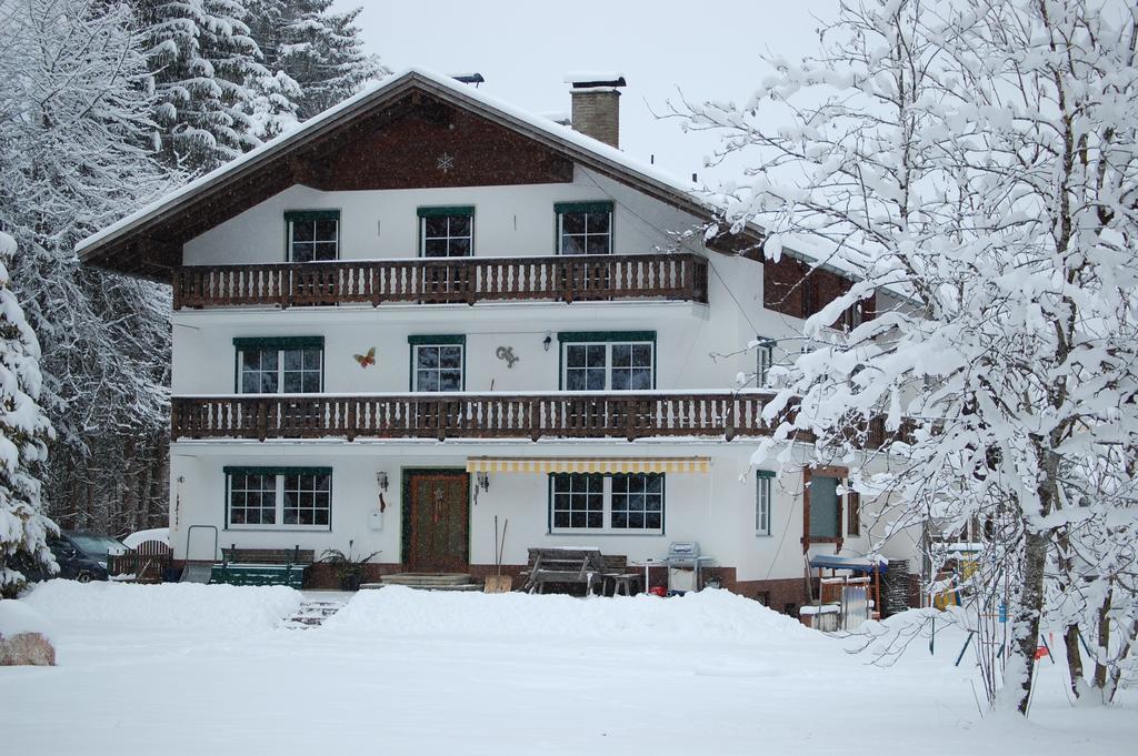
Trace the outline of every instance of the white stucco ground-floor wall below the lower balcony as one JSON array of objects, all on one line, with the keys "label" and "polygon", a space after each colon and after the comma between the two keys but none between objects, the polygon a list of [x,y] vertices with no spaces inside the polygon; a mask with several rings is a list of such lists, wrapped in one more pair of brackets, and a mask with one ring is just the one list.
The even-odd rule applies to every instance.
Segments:
[{"label": "white stucco ground-floor wall below the lower balcony", "polygon": [[[492,473],[488,491],[470,506],[470,563],[494,563],[494,516],[509,518],[504,563],[525,564],[527,549],[547,546],[591,546],[629,560],[660,558],[671,541],[699,541],[704,554],[720,566],[735,567],[739,580],[797,579],[803,574],[801,467],[784,468],[773,485],[769,535],[754,532],[756,475],[750,466],[753,445],[636,445],[645,456],[709,456],[709,474],[669,474],[666,480],[663,534],[564,534],[549,532],[547,481],[536,473]],[[645,448],[648,447],[648,448]],[[620,443],[204,443],[175,442],[171,454],[171,513],[175,558],[184,558],[189,525],[214,525],[222,547],[381,550],[381,563],[402,559],[401,471],[413,467],[464,468],[468,455],[477,456],[627,456]],[[224,522],[226,465],[303,465],[332,467],[331,530],[228,530]],[[371,513],[379,501],[376,473],[388,474],[384,529],[371,529]],[[472,497],[473,499],[473,497]],[[873,509],[873,502],[863,505]],[[207,538],[208,535],[208,538]],[[847,538],[843,555],[865,554],[871,531]],[[212,533],[195,531],[191,558],[207,558]],[[887,556],[908,557],[912,543],[900,538]],[[811,554],[833,554],[819,545]]]}]

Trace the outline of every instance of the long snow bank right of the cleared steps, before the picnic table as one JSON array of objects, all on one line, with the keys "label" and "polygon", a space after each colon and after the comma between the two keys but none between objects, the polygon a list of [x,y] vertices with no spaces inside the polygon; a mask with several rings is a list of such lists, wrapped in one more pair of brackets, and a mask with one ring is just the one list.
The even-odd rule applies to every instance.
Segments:
[{"label": "long snow bank right of the cleared steps, before the picnic table", "polygon": [[673,598],[579,599],[526,593],[446,593],[389,587],[357,593],[324,628],[330,632],[464,638],[571,637],[693,640],[822,639],[758,601],[704,590]]}]

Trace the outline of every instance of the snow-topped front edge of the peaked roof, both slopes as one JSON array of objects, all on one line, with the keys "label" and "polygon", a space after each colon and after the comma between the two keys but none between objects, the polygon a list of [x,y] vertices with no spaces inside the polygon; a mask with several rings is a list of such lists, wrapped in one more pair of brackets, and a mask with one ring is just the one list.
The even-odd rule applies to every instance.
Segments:
[{"label": "snow-topped front edge of the peaked roof, both slopes", "polygon": [[[604,74],[608,76],[608,74]],[[578,80],[580,81],[580,80]],[[378,82],[344,102],[324,110],[318,116],[299,124],[291,131],[265,142],[261,147],[246,152],[220,168],[185,184],[160,199],[150,202],[131,215],[122,218],[102,231],[88,236],[75,247],[83,260],[90,260],[100,248],[129,238],[134,230],[156,221],[162,216],[176,213],[192,199],[204,194],[221,182],[234,178],[253,167],[266,164],[282,156],[290,148],[304,143],[314,134],[331,128],[338,121],[374,107],[404,92],[410,86],[422,88],[439,98],[468,108],[493,121],[514,128],[533,139],[560,149],[568,156],[589,167],[600,168],[624,183],[629,183],[641,191],[646,191],[658,199],[668,201],[694,213],[700,217],[711,218],[716,207],[698,190],[695,184],[676,178],[658,167],[636,160],[619,149],[597,141],[579,132],[553,123],[547,118],[516,108],[484,90],[463,84],[451,76],[420,67],[401,70],[388,78]]]}]

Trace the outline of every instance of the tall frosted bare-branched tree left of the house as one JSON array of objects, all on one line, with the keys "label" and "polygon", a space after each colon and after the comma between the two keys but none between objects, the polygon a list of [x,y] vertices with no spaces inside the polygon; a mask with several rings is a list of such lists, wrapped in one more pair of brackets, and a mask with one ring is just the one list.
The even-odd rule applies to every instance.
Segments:
[{"label": "tall frosted bare-branched tree left of the house", "polygon": [[152,155],[133,23],[125,2],[0,0],[0,229],[19,244],[13,285],[43,349],[47,507],[113,533],[165,509],[170,294],[73,249],[182,181]]}]

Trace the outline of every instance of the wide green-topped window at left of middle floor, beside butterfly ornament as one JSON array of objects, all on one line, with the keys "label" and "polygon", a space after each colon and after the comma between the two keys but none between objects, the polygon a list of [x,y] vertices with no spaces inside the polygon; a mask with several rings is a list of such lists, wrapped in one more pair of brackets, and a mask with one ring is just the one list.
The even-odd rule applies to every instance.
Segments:
[{"label": "wide green-topped window at left of middle floor, beside butterfly ornament", "polygon": [[323,337],[233,339],[238,393],[320,393]]}]

